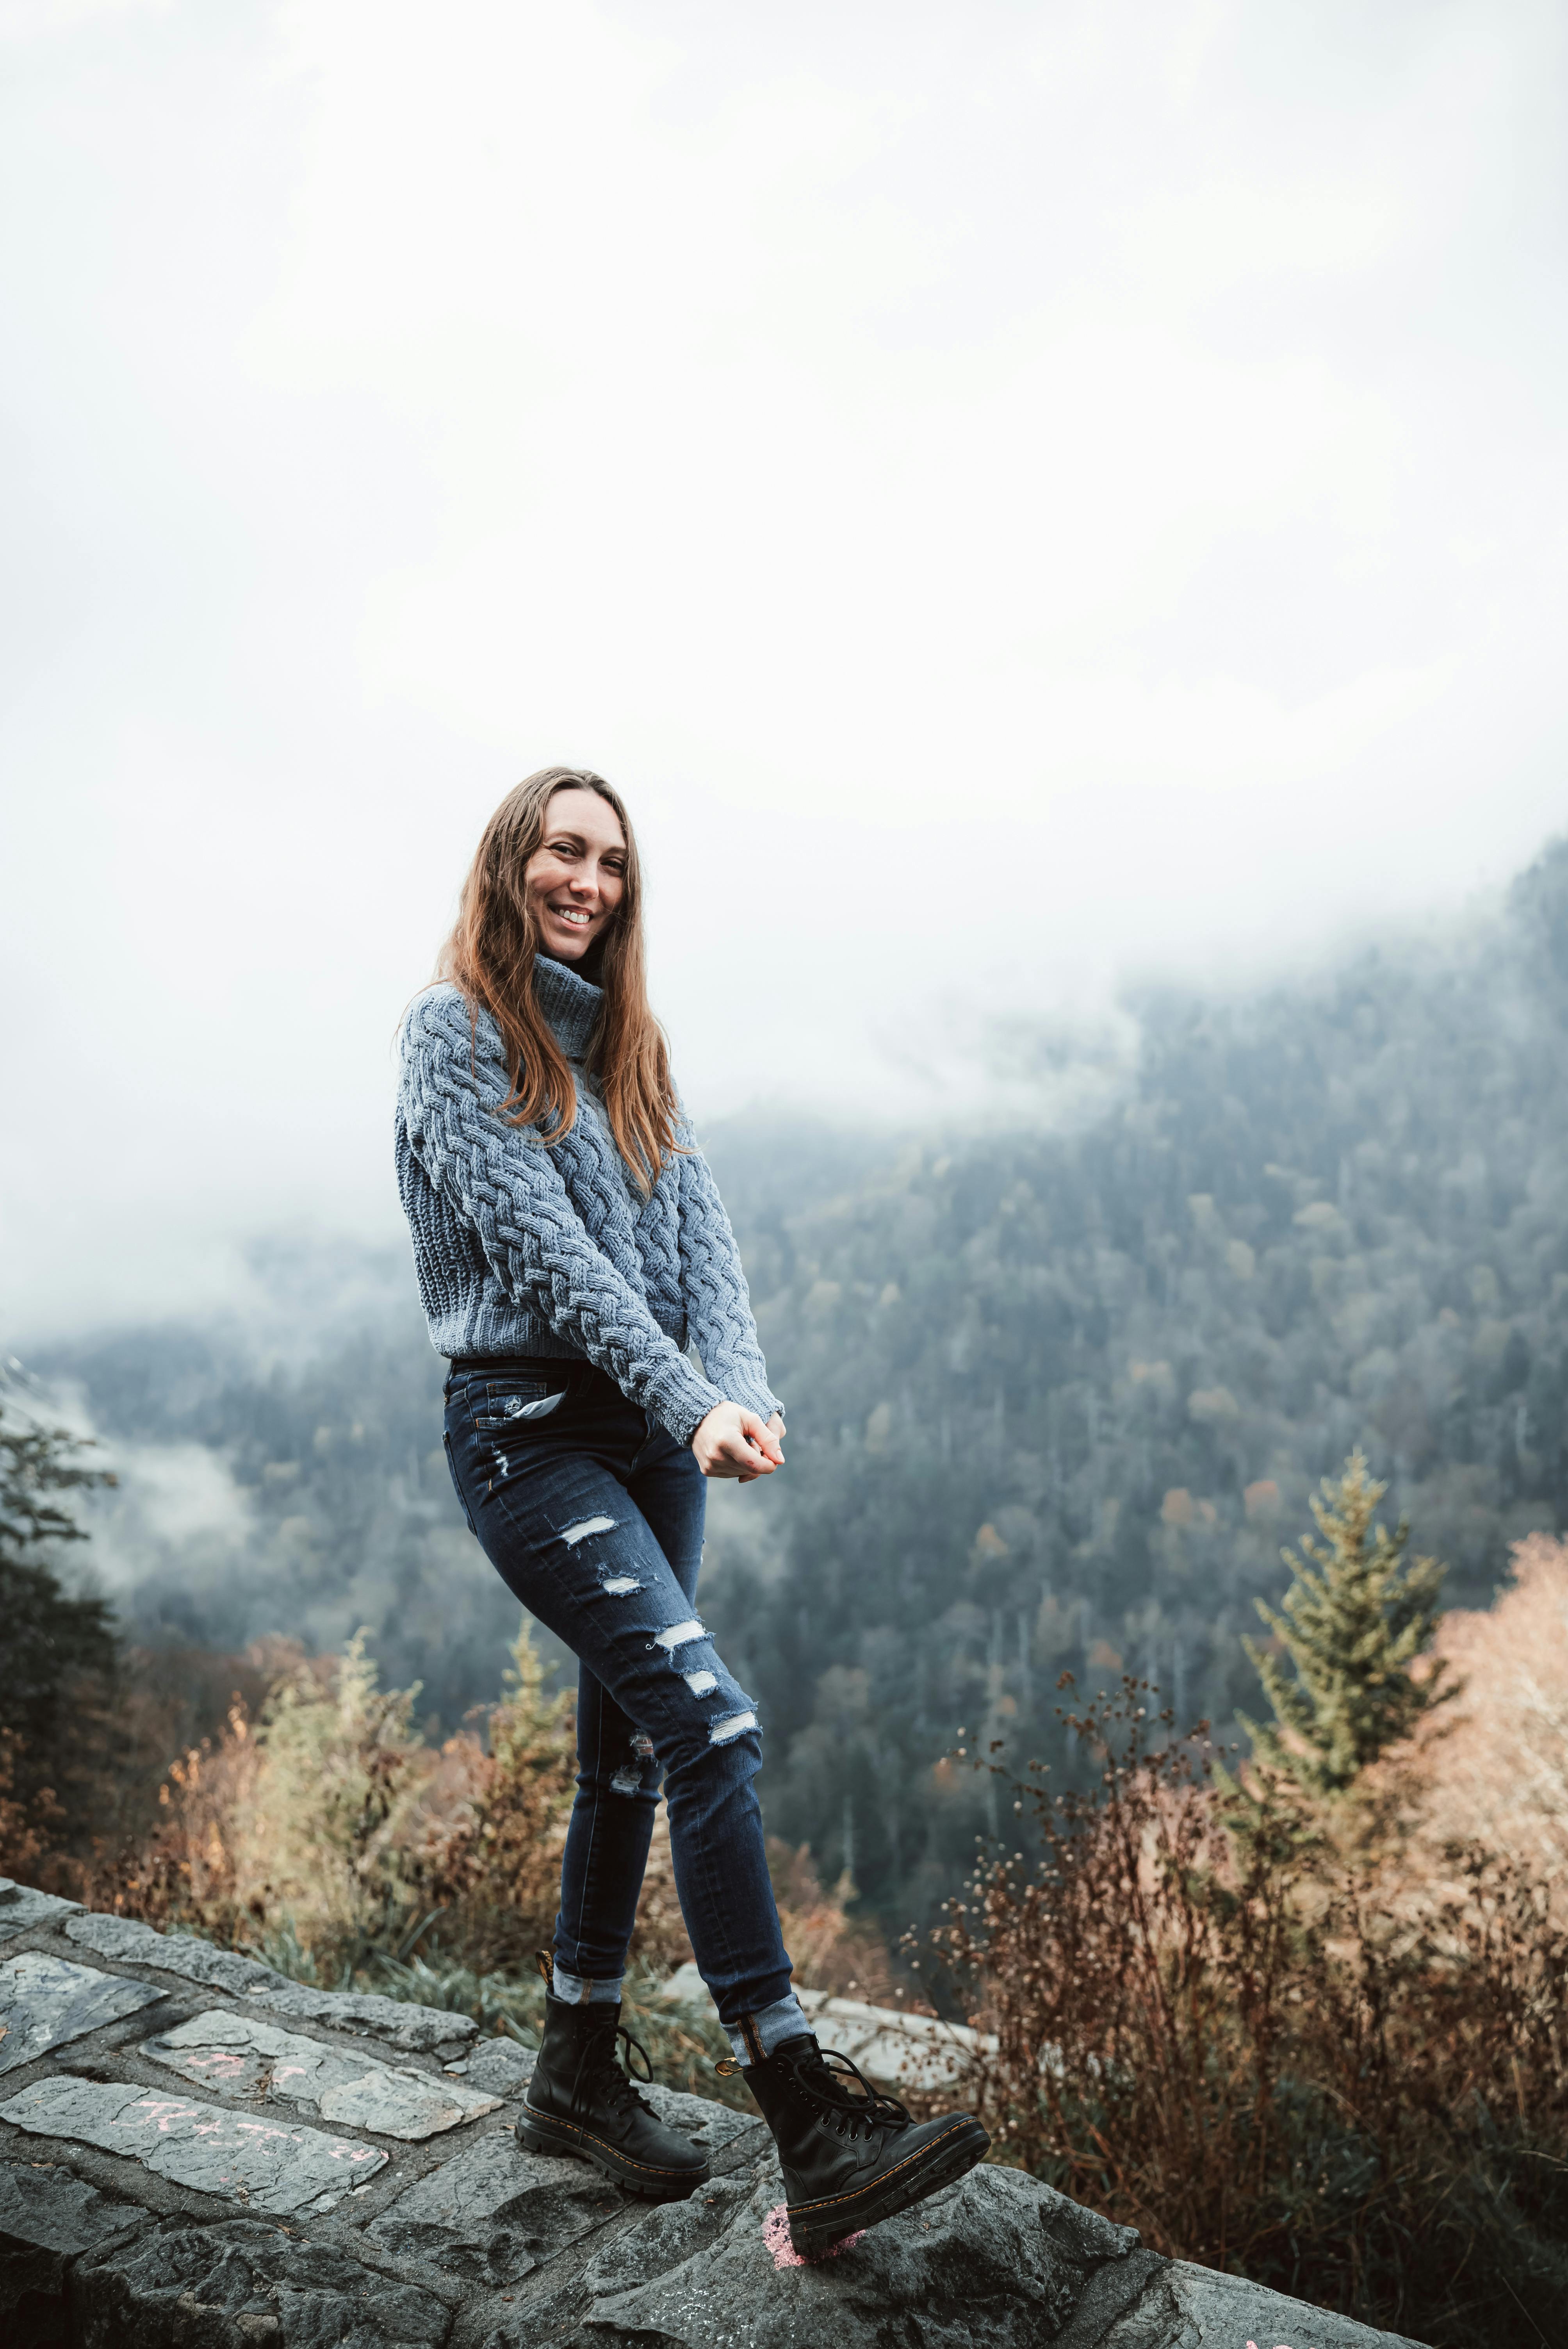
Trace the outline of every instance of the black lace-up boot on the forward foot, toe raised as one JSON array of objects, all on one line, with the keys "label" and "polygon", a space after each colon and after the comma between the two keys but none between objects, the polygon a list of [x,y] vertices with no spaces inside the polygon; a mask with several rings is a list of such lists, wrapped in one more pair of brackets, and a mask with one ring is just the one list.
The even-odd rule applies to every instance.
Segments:
[{"label": "black lace-up boot on the forward foot, toe raised", "polygon": [[779,2147],[789,2239],[800,2253],[908,2210],[991,2149],[969,2112],[913,2121],[847,2055],[824,2055],[810,2034],[742,2065],[742,2077]]}]

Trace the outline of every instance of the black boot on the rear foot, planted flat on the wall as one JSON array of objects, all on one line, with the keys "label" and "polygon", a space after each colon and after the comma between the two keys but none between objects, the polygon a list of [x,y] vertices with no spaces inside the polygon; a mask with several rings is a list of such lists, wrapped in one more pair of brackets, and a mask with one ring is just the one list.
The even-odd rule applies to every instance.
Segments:
[{"label": "black boot on the rear foot, planted flat on the wall", "polygon": [[545,2041],[523,2095],[516,2142],[530,2154],[573,2154],[603,2178],[650,2201],[685,2201],[709,2180],[707,2154],[690,2138],[664,2128],[627,2074],[617,2039],[643,2058],[648,2051],[620,2027],[620,2004],[568,2006],[545,1994]]}]

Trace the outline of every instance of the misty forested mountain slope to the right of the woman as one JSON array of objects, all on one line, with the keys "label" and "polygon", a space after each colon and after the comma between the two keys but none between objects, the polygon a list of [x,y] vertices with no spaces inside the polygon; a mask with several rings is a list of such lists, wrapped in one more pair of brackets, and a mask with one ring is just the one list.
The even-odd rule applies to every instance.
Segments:
[{"label": "misty forested mountain slope to the right of the woman", "polygon": [[789,1473],[709,1611],[786,1748],[772,1825],[890,1914],[972,1849],[958,1724],[1061,1769],[1063,1668],[1258,1701],[1253,1593],[1352,1445],[1455,1602],[1568,1513],[1568,848],[1448,954],[1136,1010],[1094,1130],[746,1233]]}]

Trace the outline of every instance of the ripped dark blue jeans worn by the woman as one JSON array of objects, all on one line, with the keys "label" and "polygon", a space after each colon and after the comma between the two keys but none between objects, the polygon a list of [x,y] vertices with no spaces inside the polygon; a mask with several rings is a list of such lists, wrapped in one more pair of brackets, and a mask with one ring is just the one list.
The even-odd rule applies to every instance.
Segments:
[{"label": "ripped dark blue jeans worn by the woman", "polygon": [[[627,1964],[664,1781],[681,1914],[718,2015],[805,2030],[763,1851],[756,1705],[697,1616],[702,1470],[592,1362],[453,1362],[446,1456],[491,1564],[577,1656],[577,1797],[554,1961]],[[793,2020],[798,2018],[798,2020]]]}]

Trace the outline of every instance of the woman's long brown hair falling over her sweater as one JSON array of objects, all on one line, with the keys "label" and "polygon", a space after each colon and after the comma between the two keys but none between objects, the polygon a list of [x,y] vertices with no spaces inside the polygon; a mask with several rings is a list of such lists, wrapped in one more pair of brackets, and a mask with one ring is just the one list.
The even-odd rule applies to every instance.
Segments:
[{"label": "woman's long brown hair falling over her sweater", "polygon": [[[636,836],[620,792],[580,766],[542,766],[484,827],[462,883],[458,926],[441,949],[439,977],[467,996],[474,1019],[491,1015],[507,1048],[512,1090],[500,1104],[512,1125],[538,1125],[545,1144],[561,1142],[577,1120],[577,1092],[549,1019],[533,998],[538,923],[528,909],[523,871],[547,829],[556,792],[596,792],[615,810],[627,841],[622,900],[603,933],[603,1010],[587,1064],[599,1078],[615,1149],[643,1189],[657,1182],[676,1144],[676,1088],[669,1048],[648,1010],[643,970],[643,874]],[[568,965],[570,968],[570,965]]]}]

